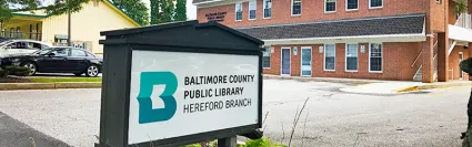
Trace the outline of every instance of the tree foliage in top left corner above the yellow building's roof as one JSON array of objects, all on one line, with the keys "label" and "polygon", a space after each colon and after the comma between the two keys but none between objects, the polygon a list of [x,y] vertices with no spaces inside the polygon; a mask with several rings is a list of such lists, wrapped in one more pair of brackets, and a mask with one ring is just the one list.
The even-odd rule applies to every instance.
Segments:
[{"label": "tree foliage in top left corner above the yellow building's roof", "polygon": [[67,12],[78,12],[84,2],[90,0],[54,0],[46,6],[50,0],[0,0],[0,22],[6,22],[13,17],[13,12],[46,10],[51,14],[63,14]]}]

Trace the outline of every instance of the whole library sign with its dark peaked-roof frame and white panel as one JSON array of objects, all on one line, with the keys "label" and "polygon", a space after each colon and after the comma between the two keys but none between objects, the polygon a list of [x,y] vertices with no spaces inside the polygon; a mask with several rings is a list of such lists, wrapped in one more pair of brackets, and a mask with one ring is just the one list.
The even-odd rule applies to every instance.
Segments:
[{"label": "whole library sign with its dark peaked-roof frame and white panel", "polygon": [[[102,32],[101,147],[262,137],[262,41],[217,22]],[[221,144],[220,144],[221,143]]]}]

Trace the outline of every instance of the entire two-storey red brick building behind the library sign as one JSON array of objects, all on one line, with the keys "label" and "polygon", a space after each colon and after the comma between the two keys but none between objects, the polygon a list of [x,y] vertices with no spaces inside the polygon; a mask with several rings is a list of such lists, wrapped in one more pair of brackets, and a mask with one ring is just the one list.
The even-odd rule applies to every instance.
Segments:
[{"label": "entire two-storey red brick building behind the library sign", "polygon": [[[471,3],[469,0],[468,3]],[[264,41],[265,74],[395,81],[469,80],[471,13],[455,0],[193,0],[218,21]]]}]

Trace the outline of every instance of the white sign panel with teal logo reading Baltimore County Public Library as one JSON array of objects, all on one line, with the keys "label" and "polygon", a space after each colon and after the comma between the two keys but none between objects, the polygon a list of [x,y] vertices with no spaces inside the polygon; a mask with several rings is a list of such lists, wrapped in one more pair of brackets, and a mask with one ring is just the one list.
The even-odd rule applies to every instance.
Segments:
[{"label": "white sign panel with teal logo reading Baltimore County Public Library", "polygon": [[129,144],[257,124],[258,67],[255,55],[133,51]]}]

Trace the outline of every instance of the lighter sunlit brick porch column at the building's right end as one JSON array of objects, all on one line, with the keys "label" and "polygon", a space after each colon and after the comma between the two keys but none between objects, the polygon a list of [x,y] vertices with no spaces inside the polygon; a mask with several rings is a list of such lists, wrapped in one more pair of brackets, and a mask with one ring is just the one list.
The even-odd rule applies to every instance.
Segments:
[{"label": "lighter sunlit brick porch column at the building's right end", "polygon": [[422,76],[423,83],[433,83],[433,39],[426,38],[426,41],[422,43],[423,52],[423,65],[422,65]]}]

